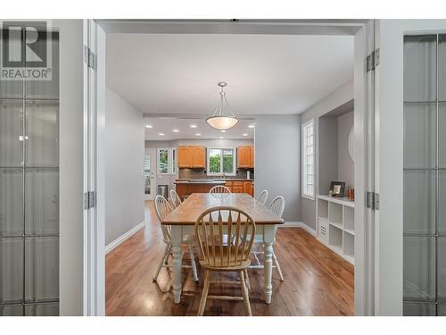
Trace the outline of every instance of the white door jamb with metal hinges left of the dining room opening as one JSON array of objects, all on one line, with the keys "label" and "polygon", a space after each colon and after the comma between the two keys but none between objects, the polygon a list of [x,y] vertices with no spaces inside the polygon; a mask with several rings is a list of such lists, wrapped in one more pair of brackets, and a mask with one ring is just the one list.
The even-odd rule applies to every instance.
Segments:
[{"label": "white door jamb with metal hinges left of the dining room opening", "polygon": [[[90,59],[88,50],[93,53]],[[105,315],[105,33],[93,20],[84,20],[83,52],[83,314]],[[93,192],[91,207],[88,192]]]}]

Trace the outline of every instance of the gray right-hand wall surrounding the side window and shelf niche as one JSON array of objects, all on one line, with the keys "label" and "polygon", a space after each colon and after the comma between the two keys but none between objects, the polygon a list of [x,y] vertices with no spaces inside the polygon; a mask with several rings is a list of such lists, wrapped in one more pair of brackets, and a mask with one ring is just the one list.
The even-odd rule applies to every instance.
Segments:
[{"label": "gray right-hand wall surrounding the side window and shelf niche", "polygon": [[[320,100],[316,105],[310,107],[307,111],[301,114],[301,123],[309,121],[314,118],[315,121],[315,138],[316,138],[316,188],[318,188],[318,118],[330,111],[333,111],[336,107],[346,104],[353,98],[353,80],[349,81],[341,88],[335,90],[335,92],[326,96]],[[337,162],[336,162],[337,169]],[[316,202],[307,198],[301,198],[301,222],[306,223],[310,228],[316,230]]]}]

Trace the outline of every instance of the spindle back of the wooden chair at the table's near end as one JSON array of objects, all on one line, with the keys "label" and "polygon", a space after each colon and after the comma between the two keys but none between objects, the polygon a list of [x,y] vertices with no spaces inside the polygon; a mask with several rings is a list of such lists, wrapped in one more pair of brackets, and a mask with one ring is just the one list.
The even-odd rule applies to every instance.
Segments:
[{"label": "spindle back of the wooden chair at the table's near end", "polygon": [[[224,239],[225,225],[227,240]],[[255,222],[249,214],[235,207],[214,207],[199,216],[195,222],[195,235],[207,264],[232,268],[249,260]]]}]

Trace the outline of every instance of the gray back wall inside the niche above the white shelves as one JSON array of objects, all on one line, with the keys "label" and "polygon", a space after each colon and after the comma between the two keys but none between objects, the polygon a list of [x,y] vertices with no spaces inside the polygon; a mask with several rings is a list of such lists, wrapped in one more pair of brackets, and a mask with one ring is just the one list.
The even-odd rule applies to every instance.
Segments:
[{"label": "gray back wall inside the niche above the white shelves", "polygon": [[337,133],[338,133],[338,158],[337,158],[337,172],[338,180],[345,181],[345,190],[349,187],[354,187],[354,163],[349,154],[349,134],[353,127],[354,113],[343,114],[337,118]]}]

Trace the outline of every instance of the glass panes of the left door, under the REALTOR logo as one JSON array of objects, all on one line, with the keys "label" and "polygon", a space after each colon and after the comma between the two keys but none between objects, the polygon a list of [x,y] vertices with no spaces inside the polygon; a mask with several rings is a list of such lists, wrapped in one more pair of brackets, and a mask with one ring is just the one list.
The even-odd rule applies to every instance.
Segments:
[{"label": "glass panes of the left door, under the REALTOR logo", "polygon": [[2,23],[3,46],[21,47],[0,64],[14,69],[0,78],[0,315],[58,315],[59,33]]}]

